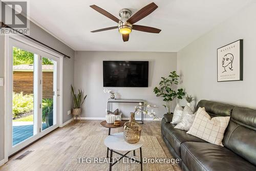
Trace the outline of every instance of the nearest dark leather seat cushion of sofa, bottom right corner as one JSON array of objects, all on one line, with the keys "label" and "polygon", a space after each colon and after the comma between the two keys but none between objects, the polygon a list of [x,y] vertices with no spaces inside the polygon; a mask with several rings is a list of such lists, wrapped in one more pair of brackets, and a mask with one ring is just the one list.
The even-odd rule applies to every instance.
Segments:
[{"label": "nearest dark leather seat cushion of sofa, bottom right corner", "polygon": [[256,166],[228,148],[203,142],[181,144],[181,159],[189,170],[256,170]]}]

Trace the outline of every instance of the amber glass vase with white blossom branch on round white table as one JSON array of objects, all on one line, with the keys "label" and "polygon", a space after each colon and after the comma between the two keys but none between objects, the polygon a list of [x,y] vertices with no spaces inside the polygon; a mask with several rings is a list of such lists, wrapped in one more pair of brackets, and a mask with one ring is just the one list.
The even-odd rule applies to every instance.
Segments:
[{"label": "amber glass vase with white blossom branch on round white table", "polygon": [[135,111],[130,114],[130,120],[123,125],[123,138],[128,143],[136,143],[140,140],[140,133],[141,133],[141,125],[135,121],[135,114],[139,114],[141,111],[143,114],[150,115],[154,117],[154,119],[160,120],[160,118],[156,115],[154,110],[148,112],[144,110],[144,108],[156,108],[154,105],[150,104],[142,104],[140,103],[135,107]]}]

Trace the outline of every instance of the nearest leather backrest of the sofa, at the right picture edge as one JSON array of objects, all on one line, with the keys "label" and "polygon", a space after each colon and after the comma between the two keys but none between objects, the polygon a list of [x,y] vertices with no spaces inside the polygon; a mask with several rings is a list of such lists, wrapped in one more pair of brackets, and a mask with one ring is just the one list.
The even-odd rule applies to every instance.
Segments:
[{"label": "nearest leather backrest of the sofa, at the right picture edge", "polygon": [[256,110],[234,108],[222,143],[256,165]]}]

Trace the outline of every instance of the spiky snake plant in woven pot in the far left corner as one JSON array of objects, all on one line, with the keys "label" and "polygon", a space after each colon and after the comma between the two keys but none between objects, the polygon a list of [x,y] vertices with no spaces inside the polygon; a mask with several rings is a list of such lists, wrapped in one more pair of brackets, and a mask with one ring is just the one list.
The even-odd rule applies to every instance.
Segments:
[{"label": "spiky snake plant in woven pot in the far left corner", "polygon": [[71,85],[71,91],[73,95],[73,101],[74,101],[74,108],[73,108],[73,115],[80,115],[82,112],[82,105],[84,103],[84,100],[86,100],[86,96],[83,97],[82,90],[78,89],[78,94],[75,94],[74,88]]}]

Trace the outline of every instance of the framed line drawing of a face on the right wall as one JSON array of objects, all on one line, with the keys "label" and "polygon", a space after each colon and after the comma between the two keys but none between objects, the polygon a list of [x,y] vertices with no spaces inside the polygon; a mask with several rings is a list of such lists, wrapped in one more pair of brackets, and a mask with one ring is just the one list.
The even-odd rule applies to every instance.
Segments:
[{"label": "framed line drawing of a face on the right wall", "polygon": [[243,39],[217,50],[217,78],[218,82],[243,80]]}]

